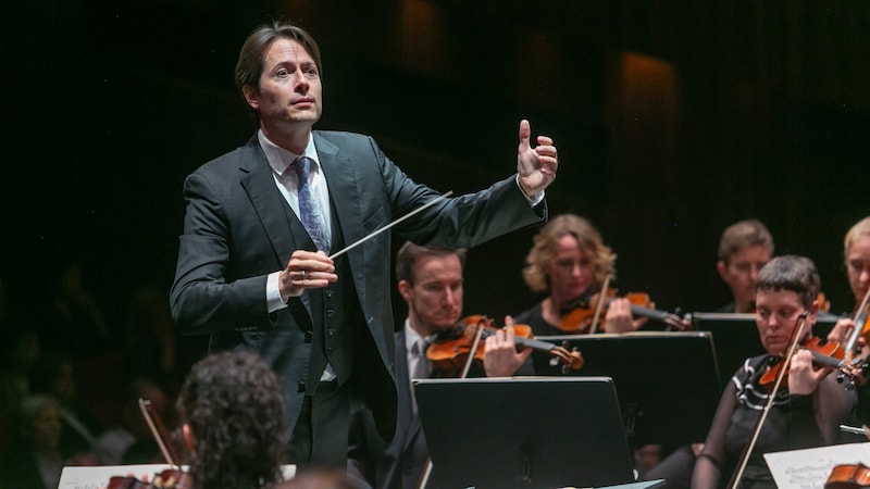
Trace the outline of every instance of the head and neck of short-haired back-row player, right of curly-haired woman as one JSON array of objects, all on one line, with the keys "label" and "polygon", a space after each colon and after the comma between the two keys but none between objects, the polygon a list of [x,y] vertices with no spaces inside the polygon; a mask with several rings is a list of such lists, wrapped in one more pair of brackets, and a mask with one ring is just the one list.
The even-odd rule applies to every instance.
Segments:
[{"label": "head and neck of short-haired back-row player, right of curly-haired woman", "polygon": [[771,258],[773,236],[760,221],[739,221],[722,231],[716,271],[731,289],[732,301],[718,312],[755,312],[755,283]]}]

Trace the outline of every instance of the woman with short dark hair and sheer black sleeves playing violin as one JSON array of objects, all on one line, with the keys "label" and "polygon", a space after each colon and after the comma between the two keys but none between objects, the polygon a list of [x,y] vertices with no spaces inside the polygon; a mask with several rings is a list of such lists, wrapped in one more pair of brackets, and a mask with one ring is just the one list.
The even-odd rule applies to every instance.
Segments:
[{"label": "woman with short dark hair and sheer black sleeves playing violin", "polygon": [[[817,366],[813,355],[799,349],[791,359],[793,334],[798,340],[811,337],[818,313],[820,279],[807,258],[785,255],[773,259],[758,274],[756,323],[767,354],[746,359],[732,377],[713,417],[692,478],[693,488],[723,487],[735,473],[739,487],[775,488],[762,455],[767,452],[830,444],[838,440],[838,426],[855,406],[854,392],[828,375],[830,367]],[[797,329],[803,326],[801,329]],[[803,341],[801,341],[803,343]],[[787,366],[781,389],[768,392],[761,379],[779,363]],[[765,423],[760,413],[772,404]],[[758,430],[758,437],[754,431]],[[742,451],[756,439],[748,459]],[[735,472],[746,460],[744,471]]]}]

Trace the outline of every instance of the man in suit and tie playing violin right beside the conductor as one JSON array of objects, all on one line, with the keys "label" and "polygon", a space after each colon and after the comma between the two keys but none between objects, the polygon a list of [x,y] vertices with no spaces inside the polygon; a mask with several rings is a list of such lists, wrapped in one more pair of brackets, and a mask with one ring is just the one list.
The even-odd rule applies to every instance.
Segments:
[{"label": "man in suit and tie playing violin right beside the conductor", "polygon": [[[349,472],[374,488],[414,488],[421,479],[428,450],[411,381],[432,375],[432,364],[425,355],[427,343],[438,331],[455,328],[462,316],[464,260],[464,249],[422,247],[410,241],[396,255],[398,290],[408,304],[405,326],[395,335],[399,387],[396,434],[391,441],[382,441],[371,413],[360,412],[351,426],[348,454]],[[506,333],[486,338],[484,372],[472,375],[530,375],[530,351],[515,351],[512,328],[508,327]]]}]

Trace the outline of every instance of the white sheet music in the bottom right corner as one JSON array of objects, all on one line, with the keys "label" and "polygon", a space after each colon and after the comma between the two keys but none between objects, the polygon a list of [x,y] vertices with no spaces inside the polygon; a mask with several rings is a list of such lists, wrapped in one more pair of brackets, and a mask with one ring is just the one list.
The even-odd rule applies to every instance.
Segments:
[{"label": "white sheet music in the bottom right corner", "polygon": [[779,489],[818,489],[836,465],[870,465],[870,442],[765,453]]}]

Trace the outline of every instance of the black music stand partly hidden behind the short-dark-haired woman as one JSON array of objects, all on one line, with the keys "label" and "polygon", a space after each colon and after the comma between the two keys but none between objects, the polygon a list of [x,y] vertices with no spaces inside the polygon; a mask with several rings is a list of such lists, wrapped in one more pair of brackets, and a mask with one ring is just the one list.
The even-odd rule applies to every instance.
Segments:
[{"label": "black music stand partly hidden behind the short-dark-haired woman", "polygon": [[[820,313],[812,334],[826,338],[837,319],[833,314]],[[694,313],[692,323],[695,330],[713,334],[713,349],[723,386],[731,381],[746,359],[766,353],[758,337],[755,314]]]}]

